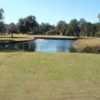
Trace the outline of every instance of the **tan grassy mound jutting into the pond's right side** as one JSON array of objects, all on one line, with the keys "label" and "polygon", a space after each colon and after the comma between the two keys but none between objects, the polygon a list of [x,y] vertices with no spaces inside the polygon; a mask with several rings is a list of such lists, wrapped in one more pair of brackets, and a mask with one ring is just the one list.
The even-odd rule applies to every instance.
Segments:
[{"label": "tan grassy mound jutting into the pond's right side", "polygon": [[100,38],[79,39],[72,48],[78,52],[100,53]]}]

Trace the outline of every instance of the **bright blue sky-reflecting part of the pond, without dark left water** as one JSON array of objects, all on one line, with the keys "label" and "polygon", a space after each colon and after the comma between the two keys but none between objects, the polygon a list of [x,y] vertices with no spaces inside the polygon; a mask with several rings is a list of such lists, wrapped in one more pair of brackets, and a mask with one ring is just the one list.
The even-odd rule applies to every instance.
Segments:
[{"label": "bright blue sky-reflecting part of the pond, without dark left water", "polygon": [[35,52],[70,52],[75,40],[36,39]]}]

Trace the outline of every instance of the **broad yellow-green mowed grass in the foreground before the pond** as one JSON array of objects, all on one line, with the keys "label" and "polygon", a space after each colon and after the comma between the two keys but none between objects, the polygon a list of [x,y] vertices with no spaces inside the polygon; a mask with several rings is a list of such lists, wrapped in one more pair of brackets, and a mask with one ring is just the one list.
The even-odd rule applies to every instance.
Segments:
[{"label": "broad yellow-green mowed grass in the foreground before the pond", "polygon": [[100,100],[100,55],[1,52],[0,100]]}]

